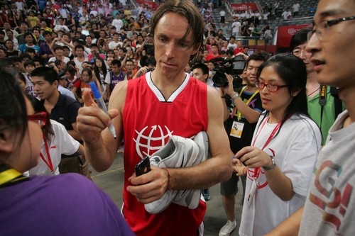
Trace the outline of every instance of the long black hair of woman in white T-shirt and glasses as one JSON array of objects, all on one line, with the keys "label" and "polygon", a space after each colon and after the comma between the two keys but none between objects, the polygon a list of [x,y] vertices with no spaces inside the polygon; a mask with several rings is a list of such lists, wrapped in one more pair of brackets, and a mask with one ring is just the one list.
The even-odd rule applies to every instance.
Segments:
[{"label": "long black hair of woman in white T-shirt and glasses", "polygon": [[[275,69],[275,72],[287,85],[290,94],[299,91],[296,96],[290,95],[290,104],[288,104],[285,113],[283,113],[280,127],[293,114],[310,117],[307,109],[307,69],[305,63],[299,57],[289,53],[275,55],[261,64],[258,68],[257,79],[259,79],[261,72],[266,67]],[[268,111],[266,111],[266,115],[268,115]]]}]

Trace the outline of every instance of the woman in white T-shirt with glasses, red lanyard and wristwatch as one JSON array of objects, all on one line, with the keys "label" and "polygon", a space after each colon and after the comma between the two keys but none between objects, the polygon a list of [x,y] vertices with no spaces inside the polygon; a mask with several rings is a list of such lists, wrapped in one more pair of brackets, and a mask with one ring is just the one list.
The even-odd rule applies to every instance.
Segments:
[{"label": "woman in white T-shirt with glasses, red lanyard and wristwatch", "polygon": [[257,78],[266,111],[251,146],[233,159],[236,174],[247,175],[239,235],[265,235],[304,205],[322,140],[307,112],[300,58],[275,55],[261,64]]}]

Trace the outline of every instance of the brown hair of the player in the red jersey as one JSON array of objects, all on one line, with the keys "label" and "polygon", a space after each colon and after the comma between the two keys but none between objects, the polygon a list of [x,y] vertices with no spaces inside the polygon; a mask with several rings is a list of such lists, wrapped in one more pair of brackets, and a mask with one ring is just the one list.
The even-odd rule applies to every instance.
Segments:
[{"label": "brown hair of the player in the red jersey", "polygon": [[164,4],[159,6],[153,18],[151,18],[151,35],[153,35],[153,37],[160,18],[167,13],[178,13],[180,16],[184,16],[189,26],[182,39],[185,39],[187,35],[192,32],[193,39],[190,47],[202,47],[204,33],[202,16],[197,7],[189,0],[165,1]]}]

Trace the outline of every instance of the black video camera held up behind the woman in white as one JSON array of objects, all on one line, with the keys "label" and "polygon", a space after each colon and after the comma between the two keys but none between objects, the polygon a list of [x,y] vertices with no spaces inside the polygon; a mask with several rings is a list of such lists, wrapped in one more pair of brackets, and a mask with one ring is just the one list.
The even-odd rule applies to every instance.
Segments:
[{"label": "black video camera held up behind the woman in white", "polygon": [[226,74],[230,74],[233,77],[233,87],[234,89],[239,89],[243,82],[243,79],[239,77],[242,74],[246,61],[242,55],[236,56],[233,59],[224,59],[222,57],[216,57],[214,59],[214,76],[212,77],[213,86],[215,87],[225,87],[228,86],[228,79],[226,79]]}]

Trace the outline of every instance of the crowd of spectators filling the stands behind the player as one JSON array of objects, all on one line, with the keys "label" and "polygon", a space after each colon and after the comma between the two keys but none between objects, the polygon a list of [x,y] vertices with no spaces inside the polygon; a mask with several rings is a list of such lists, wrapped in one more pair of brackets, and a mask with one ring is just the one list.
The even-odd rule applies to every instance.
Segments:
[{"label": "crowd of spectators filling the stands behind the player", "polygon": [[[272,38],[268,25],[260,28],[258,12],[236,12],[234,23],[227,26],[223,7],[218,9],[219,24],[212,17],[217,4],[197,4],[205,23],[204,48],[190,67],[195,62],[207,64],[215,57],[234,57],[239,52],[248,56],[249,47],[244,51],[241,41],[236,42],[241,35]],[[15,62],[31,95],[35,95],[31,71],[41,66],[55,68],[65,79],[64,88],[74,91],[78,101],[82,72],[89,67],[92,79],[101,84],[102,95],[108,100],[118,82],[155,67],[149,26],[154,11],[147,4],[133,7],[126,1],[110,0],[6,2],[1,4],[0,13],[0,58],[9,57]],[[216,48],[213,53],[212,48]]]}]

